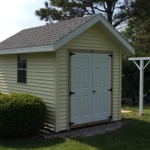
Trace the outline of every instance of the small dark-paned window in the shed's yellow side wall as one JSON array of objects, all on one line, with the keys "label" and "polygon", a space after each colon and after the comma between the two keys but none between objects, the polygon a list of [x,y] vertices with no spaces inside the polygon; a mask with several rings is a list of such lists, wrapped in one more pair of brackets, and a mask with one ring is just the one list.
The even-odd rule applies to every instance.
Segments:
[{"label": "small dark-paned window in the shed's yellow side wall", "polygon": [[18,83],[26,83],[26,55],[18,55],[17,60],[17,81]]}]

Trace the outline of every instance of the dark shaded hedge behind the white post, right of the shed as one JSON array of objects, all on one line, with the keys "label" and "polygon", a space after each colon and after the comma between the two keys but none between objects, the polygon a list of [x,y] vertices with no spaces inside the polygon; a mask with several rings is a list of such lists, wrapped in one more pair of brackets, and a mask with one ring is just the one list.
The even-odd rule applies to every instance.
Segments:
[{"label": "dark shaded hedge behind the white post, right of the shed", "polygon": [[[129,61],[130,57],[148,57],[150,53],[137,52],[132,56],[123,56],[122,60],[122,97],[134,96],[139,92],[139,69]],[[138,63],[138,62],[137,62]],[[147,61],[145,61],[145,64]],[[139,63],[138,63],[139,64]],[[150,65],[144,70],[144,92],[149,93],[150,90]]]}]

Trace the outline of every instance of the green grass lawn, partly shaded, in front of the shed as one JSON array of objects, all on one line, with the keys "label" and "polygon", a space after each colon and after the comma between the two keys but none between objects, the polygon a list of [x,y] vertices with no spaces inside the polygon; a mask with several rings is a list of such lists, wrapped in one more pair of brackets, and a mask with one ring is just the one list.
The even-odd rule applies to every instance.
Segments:
[{"label": "green grass lawn, partly shaded, in front of the shed", "polygon": [[129,119],[122,128],[102,135],[85,138],[35,138],[0,141],[0,150],[150,150],[150,106],[145,115],[138,116],[138,107],[125,107],[131,113],[122,114]]}]

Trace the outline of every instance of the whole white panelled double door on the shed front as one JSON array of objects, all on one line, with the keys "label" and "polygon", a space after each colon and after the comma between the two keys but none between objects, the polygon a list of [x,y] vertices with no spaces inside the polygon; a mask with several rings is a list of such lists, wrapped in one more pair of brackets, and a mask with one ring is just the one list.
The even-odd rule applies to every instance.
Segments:
[{"label": "whole white panelled double door on the shed front", "polygon": [[71,56],[71,122],[79,125],[110,116],[110,54],[74,53]]}]

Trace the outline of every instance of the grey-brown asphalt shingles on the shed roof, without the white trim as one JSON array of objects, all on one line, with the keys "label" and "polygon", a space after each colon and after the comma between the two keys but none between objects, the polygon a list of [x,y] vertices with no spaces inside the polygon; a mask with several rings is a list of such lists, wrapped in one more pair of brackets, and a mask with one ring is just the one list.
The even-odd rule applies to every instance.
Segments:
[{"label": "grey-brown asphalt shingles on the shed roof, without the white trim", "polygon": [[91,15],[22,30],[2,41],[0,50],[54,44],[94,17]]}]

